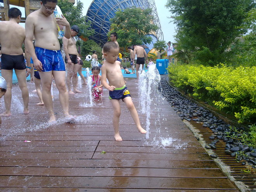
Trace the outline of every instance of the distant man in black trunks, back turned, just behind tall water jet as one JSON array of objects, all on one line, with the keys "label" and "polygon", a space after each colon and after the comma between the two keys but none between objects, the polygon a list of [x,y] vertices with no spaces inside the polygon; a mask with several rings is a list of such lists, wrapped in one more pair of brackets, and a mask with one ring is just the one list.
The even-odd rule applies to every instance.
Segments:
[{"label": "distant man in black trunks, back turned, just behind tall water jet", "polygon": [[140,47],[138,45],[133,45],[133,64],[135,61],[135,55],[137,55],[136,76],[137,76],[137,80],[138,80],[138,69],[140,68],[140,64],[142,64],[142,69],[144,68],[145,57],[147,59],[147,53],[143,47]]}]

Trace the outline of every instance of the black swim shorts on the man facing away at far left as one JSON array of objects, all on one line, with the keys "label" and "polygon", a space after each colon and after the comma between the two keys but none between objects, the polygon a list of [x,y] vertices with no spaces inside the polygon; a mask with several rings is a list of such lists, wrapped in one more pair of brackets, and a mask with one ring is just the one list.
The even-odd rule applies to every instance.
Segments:
[{"label": "black swim shorts on the man facing away at far left", "polygon": [[23,70],[23,69],[26,69],[23,54],[22,55],[2,54],[1,69],[6,69],[6,70],[12,70],[12,69]]}]

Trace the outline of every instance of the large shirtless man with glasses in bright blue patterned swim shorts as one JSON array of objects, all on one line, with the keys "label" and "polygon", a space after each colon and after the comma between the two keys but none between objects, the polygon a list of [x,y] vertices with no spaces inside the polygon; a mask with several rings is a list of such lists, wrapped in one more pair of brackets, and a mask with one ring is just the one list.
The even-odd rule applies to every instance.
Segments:
[{"label": "large shirtless man with glasses in bright blue patterned swim shorts", "polygon": [[[65,26],[64,36],[69,39],[71,37],[70,25],[64,16],[55,19],[52,15],[56,9],[57,0],[42,0],[40,4],[41,8],[29,14],[26,19],[25,45],[33,59],[35,69],[40,74],[43,103],[50,115],[48,122],[56,121],[51,95],[52,75],[59,90],[59,100],[64,116],[71,119],[74,117],[69,115],[68,111],[65,63],[61,55],[57,29],[57,24]],[[36,39],[35,48],[32,42],[33,36]]]}]

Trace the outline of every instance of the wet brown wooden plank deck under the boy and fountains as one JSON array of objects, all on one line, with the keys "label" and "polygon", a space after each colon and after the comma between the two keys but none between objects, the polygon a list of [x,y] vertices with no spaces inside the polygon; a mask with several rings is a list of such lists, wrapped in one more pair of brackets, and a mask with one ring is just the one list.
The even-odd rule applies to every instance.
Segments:
[{"label": "wet brown wooden plank deck under the boy and fountains", "polygon": [[[138,85],[135,79],[126,81],[145,127]],[[12,107],[11,117],[2,118],[1,192],[238,191],[165,100],[159,103],[159,114],[151,114],[148,140],[137,132],[121,102],[120,131],[124,141],[116,142],[108,91],[104,90],[102,103],[98,101],[92,107],[82,107],[89,103],[84,93],[70,96],[70,113],[77,116],[77,122],[59,120],[48,125],[45,108],[35,105],[35,86],[28,86],[30,113],[19,112],[17,104]],[[12,92],[12,101],[17,103],[17,97],[22,102],[17,85]],[[62,111],[57,98],[54,87],[54,109],[59,119]],[[1,102],[2,112],[3,99]]]}]

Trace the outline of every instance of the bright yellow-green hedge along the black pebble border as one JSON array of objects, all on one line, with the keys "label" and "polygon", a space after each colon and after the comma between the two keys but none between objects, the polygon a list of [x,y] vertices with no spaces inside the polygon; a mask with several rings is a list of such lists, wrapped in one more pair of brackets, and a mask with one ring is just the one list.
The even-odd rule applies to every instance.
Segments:
[{"label": "bright yellow-green hedge along the black pebble border", "polygon": [[197,99],[232,112],[239,123],[256,119],[256,67],[171,65],[173,84]]}]

